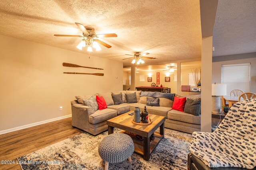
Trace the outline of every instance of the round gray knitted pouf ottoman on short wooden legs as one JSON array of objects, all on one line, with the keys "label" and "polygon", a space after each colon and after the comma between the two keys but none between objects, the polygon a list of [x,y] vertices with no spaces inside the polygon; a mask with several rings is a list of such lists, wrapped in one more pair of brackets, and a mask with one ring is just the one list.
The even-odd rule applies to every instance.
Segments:
[{"label": "round gray knitted pouf ottoman on short wooden legs", "polygon": [[105,161],[105,170],[108,170],[108,163],[119,163],[126,159],[131,162],[134,144],[129,135],[112,133],[100,142],[98,152]]}]

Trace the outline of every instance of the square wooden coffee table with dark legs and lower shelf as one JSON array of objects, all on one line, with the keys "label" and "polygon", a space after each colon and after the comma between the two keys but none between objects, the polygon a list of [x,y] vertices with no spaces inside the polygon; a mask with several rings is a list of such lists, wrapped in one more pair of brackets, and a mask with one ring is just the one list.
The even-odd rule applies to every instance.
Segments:
[{"label": "square wooden coffee table with dark legs and lower shelf", "polygon": [[[108,135],[114,133],[114,127],[122,129],[121,133],[125,131],[129,133],[134,133],[144,137],[143,141],[132,137],[134,142],[134,151],[142,154],[144,160],[149,160],[151,152],[156,148],[161,139],[164,138],[164,116],[149,114],[148,117],[151,119],[152,123],[150,125],[135,125],[132,123],[133,115],[128,115],[131,111],[109,119],[107,121],[108,125]],[[160,127],[160,133],[155,132],[156,129]],[[150,136],[154,133],[154,140],[150,141]]]}]

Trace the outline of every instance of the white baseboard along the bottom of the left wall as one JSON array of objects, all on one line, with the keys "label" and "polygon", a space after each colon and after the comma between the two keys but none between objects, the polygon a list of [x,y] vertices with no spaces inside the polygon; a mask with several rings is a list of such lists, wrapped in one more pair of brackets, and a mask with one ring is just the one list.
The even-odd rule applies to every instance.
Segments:
[{"label": "white baseboard along the bottom of the left wall", "polygon": [[3,131],[0,131],[0,135],[4,134],[4,133],[9,133],[9,132],[13,132],[13,131],[18,131],[20,129],[25,129],[25,128],[28,128],[28,127],[33,127],[33,126],[37,126],[37,125],[42,125],[44,123],[49,123],[49,122],[52,122],[52,121],[56,121],[56,120],[60,120],[60,119],[65,119],[65,118],[68,118],[68,117],[71,117],[72,115],[65,115],[65,116],[61,116],[61,117],[56,117],[56,118],[53,118],[53,119],[48,119],[48,120],[44,120],[44,121],[39,121],[39,122],[36,122],[36,123],[31,123],[31,124],[28,124],[28,125],[23,125],[23,126],[19,126],[19,127],[14,127],[14,128],[11,128],[11,129],[6,129],[6,130],[3,130]]}]

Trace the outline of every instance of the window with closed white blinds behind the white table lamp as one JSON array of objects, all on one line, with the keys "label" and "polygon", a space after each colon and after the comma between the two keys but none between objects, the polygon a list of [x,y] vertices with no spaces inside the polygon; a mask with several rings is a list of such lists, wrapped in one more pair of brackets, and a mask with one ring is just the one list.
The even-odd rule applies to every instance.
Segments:
[{"label": "window with closed white blinds behind the white table lamp", "polygon": [[222,65],[221,83],[227,84],[227,95],[234,89],[250,92],[250,63]]}]

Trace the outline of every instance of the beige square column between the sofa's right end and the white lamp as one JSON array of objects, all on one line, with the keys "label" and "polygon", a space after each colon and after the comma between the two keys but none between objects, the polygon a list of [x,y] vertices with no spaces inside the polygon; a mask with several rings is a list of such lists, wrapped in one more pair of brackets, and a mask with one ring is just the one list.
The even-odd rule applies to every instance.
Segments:
[{"label": "beige square column between the sofa's right end and the white lamp", "polygon": [[212,36],[202,38],[201,131],[212,127]]}]

